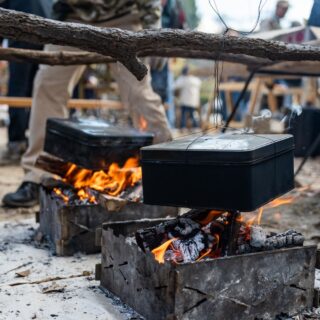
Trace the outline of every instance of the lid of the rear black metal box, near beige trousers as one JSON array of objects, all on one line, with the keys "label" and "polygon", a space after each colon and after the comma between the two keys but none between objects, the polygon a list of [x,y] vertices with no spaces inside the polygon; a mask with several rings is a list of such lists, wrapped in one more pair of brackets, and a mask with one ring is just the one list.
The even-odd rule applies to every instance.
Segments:
[{"label": "lid of the rear black metal box, near beige trousers", "polygon": [[103,120],[48,119],[47,132],[81,141],[90,146],[150,145],[153,134],[132,128],[115,127]]}]

